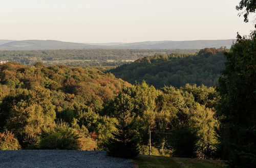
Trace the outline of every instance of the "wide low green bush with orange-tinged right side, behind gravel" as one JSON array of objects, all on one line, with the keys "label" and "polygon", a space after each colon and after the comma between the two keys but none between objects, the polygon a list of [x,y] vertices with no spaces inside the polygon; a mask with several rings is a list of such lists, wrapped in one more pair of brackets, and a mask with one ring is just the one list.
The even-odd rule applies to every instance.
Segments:
[{"label": "wide low green bush with orange-tinged right side, behind gravel", "polygon": [[86,137],[84,133],[70,128],[66,123],[60,123],[40,137],[38,147],[39,149],[94,150],[97,146],[91,137]]}]

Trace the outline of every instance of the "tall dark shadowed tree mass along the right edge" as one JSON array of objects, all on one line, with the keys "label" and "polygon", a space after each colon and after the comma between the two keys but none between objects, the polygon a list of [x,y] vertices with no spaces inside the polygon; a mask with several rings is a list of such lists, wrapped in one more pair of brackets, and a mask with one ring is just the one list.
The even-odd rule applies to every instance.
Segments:
[{"label": "tall dark shadowed tree mass along the right edge", "polygon": [[238,35],[219,79],[221,101],[218,115],[221,119],[223,157],[231,166],[251,167],[256,156],[256,35],[249,38]]}]

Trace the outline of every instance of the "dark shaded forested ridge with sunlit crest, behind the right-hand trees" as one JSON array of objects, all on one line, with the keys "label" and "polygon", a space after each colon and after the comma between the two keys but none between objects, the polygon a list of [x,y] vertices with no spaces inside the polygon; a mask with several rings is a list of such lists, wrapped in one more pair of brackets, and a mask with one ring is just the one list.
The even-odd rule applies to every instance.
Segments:
[{"label": "dark shaded forested ridge with sunlit crest, behind the right-hand trees", "polygon": [[216,86],[224,69],[225,48],[205,48],[197,54],[173,53],[143,57],[108,72],[130,83],[145,80],[156,88],[191,85]]}]

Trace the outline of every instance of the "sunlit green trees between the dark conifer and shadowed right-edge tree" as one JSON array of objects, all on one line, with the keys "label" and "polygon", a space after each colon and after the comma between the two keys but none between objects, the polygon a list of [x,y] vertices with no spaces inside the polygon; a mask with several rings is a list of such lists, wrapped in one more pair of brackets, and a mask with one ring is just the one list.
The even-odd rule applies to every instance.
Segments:
[{"label": "sunlit green trees between the dark conifer and shadowed right-edge tree", "polygon": [[[200,98],[194,98],[192,94],[194,91],[197,91],[195,95]],[[142,82],[135,87],[124,88],[102,109],[101,115],[119,118],[121,114],[127,113],[134,116],[134,130],[141,138],[140,146],[148,146],[150,129],[152,145],[161,154],[165,154],[163,151],[170,152],[174,148],[169,141],[173,132],[178,128],[187,127],[188,132],[196,136],[193,157],[214,158],[216,146],[219,143],[216,136],[218,121],[215,118],[214,108],[209,104],[216,104],[217,97],[218,94],[214,88],[205,86],[186,85],[181,89],[164,87],[158,91]],[[205,105],[209,107],[206,108]],[[190,142],[187,141],[184,144],[189,146]],[[180,156],[186,155],[183,153],[186,151],[180,152]]]}]

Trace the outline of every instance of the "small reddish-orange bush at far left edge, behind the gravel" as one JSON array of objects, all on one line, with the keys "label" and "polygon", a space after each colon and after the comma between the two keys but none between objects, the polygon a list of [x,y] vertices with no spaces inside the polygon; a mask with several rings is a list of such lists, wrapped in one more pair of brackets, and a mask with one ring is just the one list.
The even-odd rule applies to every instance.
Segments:
[{"label": "small reddish-orange bush at far left edge, behind the gravel", "polygon": [[0,132],[0,150],[18,150],[20,146],[18,140],[9,131]]}]

